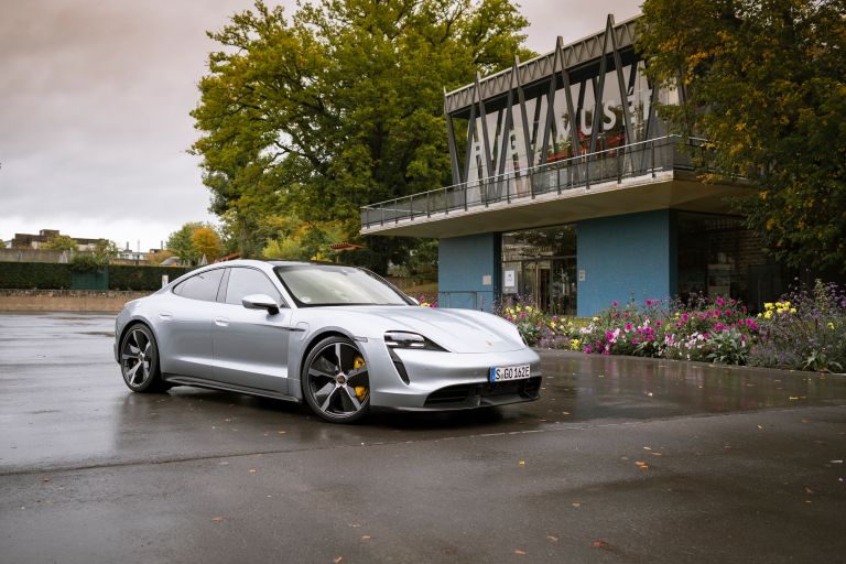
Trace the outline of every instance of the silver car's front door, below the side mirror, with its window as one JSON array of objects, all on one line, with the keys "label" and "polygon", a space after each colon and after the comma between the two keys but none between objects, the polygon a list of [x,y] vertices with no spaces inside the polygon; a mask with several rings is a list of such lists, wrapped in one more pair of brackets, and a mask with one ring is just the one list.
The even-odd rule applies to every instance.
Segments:
[{"label": "silver car's front door, below the side mirror, with its window", "polygon": [[[288,393],[288,348],[291,310],[268,275],[250,267],[230,267],[215,317],[215,379],[241,388]],[[241,300],[267,294],[278,313],[248,310]]]}]

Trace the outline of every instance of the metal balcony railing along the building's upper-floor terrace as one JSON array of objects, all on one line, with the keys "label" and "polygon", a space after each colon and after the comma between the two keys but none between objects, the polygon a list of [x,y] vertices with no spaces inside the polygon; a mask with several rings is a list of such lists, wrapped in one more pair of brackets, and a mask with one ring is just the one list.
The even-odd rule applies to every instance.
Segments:
[{"label": "metal balcony railing along the building's upper-floor terrace", "polygon": [[510,204],[543,194],[589,188],[599,183],[654,177],[664,171],[690,171],[692,154],[701,151],[703,143],[701,139],[666,135],[389,199],[361,208],[361,228],[397,225],[456,210],[481,210],[501,202]]}]

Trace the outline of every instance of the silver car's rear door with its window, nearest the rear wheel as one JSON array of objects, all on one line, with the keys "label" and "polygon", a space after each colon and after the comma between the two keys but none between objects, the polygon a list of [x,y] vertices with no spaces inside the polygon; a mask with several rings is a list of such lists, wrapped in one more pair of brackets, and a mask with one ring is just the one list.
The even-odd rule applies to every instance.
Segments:
[{"label": "silver car's rear door with its window, nearest the rear wheel", "polygon": [[159,311],[162,371],[212,379],[212,333],[226,269],[204,270],[174,286]]}]

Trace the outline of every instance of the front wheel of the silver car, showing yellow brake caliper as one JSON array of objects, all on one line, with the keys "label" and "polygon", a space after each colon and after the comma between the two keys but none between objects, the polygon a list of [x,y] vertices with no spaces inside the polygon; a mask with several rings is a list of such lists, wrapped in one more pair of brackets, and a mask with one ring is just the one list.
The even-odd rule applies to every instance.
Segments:
[{"label": "front wheel of the silver car, showing yellow brake caliper", "polygon": [[314,413],[332,423],[352,423],[370,410],[370,378],[364,355],[346,337],[327,337],[303,364],[303,397]]}]

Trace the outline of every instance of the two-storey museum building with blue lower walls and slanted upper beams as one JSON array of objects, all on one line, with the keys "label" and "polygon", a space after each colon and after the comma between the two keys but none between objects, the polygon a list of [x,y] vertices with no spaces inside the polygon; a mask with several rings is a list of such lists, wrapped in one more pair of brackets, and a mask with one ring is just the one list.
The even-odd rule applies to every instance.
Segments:
[{"label": "two-storey museum building with blue lower walls and slanted upper beams", "polygon": [[531,296],[592,316],[612,301],[705,294],[759,303],[782,271],[731,215],[748,186],[694,174],[703,141],[670,134],[636,20],[445,94],[451,186],[361,210],[364,235],[440,239],[440,303]]}]

